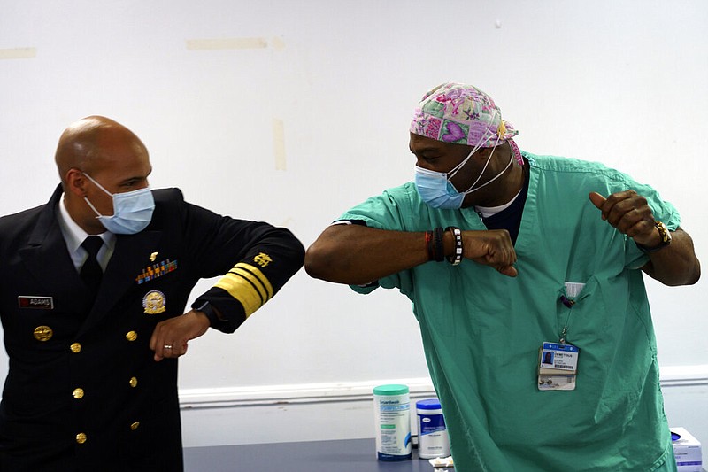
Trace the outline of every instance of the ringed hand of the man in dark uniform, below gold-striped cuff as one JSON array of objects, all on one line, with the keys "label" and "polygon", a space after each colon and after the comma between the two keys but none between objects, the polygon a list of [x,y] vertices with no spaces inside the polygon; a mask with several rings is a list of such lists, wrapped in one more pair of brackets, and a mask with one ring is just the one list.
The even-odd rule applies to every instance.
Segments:
[{"label": "ringed hand of the man in dark uniform, below gold-striped cuff", "polygon": [[[160,321],[150,337],[150,349],[155,352],[155,360],[183,356],[187,353],[187,343],[202,336],[207,329],[209,318],[196,310]],[[172,348],[165,348],[165,345]]]}]

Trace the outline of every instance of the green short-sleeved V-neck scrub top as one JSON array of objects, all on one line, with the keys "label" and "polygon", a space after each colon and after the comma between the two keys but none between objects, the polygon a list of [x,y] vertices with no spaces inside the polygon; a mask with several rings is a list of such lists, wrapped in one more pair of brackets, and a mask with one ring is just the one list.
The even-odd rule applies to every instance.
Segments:
[{"label": "green short-sleeved V-neck scrub top", "polygon": [[[464,259],[427,262],[352,289],[397,288],[411,299],[456,469],[675,470],[639,270],[649,258],[602,220],[588,195],[634,189],[671,230],[679,214],[627,174],[523,154],[530,178],[517,277]],[[486,229],[472,208],[429,207],[412,182],[341,219],[399,231]],[[566,282],[585,283],[571,308],[559,301]],[[567,342],[580,348],[576,389],[539,391],[539,347],[558,342],[566,325]]]}]

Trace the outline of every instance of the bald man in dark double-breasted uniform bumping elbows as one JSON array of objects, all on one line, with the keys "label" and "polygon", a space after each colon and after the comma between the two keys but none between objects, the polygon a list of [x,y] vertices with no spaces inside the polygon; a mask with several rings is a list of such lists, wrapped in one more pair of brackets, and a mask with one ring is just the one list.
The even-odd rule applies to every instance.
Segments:
[{"label": "bald man in dark double-breasted uniform bumping elbows", "polygon": [[[0,219],[0,470],[179,471],[177,358],[210,326],[233,332],[304,248],[150,190],[147,149],[113,120],[73,123],[56,162],[49,203]],[[196,282],[219,275],[184,313]]]}]

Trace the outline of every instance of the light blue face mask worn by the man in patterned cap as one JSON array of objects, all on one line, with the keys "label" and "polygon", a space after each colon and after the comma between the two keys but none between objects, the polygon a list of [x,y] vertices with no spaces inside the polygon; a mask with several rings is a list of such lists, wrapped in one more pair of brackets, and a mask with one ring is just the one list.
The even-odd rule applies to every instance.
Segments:
[{"label": "light blue face mask worn by the man in patterned cap", "polygon": [[462,162],[460,162],[457,166],[453,167],[450,172],[435,172],[432,170],[424,169],[423,167],[415,166],[415,186],[416,189],[418,189],[420,198],[422,198],[427,205],[430,205],[433,208],[457,210],[462,207],[462,201],[465,199],[467,194],[472,193],[476,190],[480,190],[482,187],[489,185],[489,183],[496,181],[496,179],[501,177],[502,174],[504,174],[504,172],[506,172],[506,170],[509,168],[509,166],[512,165],[512,161],[514,159],[513,153],[511,159],[509,159],[509,164],[504,167],[504,170],[502,172],[496,174],[496,176],[489,179],[489,181],[482,183],[479,187],[475,187],[475,185],[477,185],[477,182],[480,182],[481,176],[482,174],[484,174],[484,171],[487,170],[487,166],[489,166],[489,161],[492,159],[494,151],[496,150],[495,145],[495,147],[489,153],[489,158],[487,158],[487,162],[481,169],[480,176],[477,177],[477,180],[474,181],[472,185],[470,185],[469,189],[465,190],[464,192],[460,192],[455,188],[454,185],[452,185],[450,179],[452,179],[452,177],[454,177],[455,174],[458,173],[459,169],[465,166],[465,164],[472,157],[472,155],[476,151],[479,151],[480,147],[481,146],[479,145],[475,146],[473,150],[470,151],[469,154],[467,154],[467,157],[463,159]]}]

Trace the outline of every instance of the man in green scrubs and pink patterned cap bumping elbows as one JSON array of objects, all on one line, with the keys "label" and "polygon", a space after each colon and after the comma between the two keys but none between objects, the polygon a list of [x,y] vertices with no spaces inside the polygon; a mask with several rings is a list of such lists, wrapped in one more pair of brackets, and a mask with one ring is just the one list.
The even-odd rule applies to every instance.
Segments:
[{"label": "man in green scrubs and pink patterned cap bumping elbows", "polygon": [[695,283],[693,242],[650,186],[517,133],[480,89],[429,91],[415,182],[344,213],[305,268],[412,300],[458,470],[673,471],[642,273]]}]

